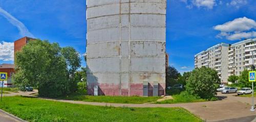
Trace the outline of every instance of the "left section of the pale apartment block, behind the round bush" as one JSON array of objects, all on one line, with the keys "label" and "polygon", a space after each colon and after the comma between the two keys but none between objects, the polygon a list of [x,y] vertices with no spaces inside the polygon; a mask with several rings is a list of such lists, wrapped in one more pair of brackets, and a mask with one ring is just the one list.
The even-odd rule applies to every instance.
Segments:
[{"label": "left section of the pale apartment block, behind the round bush", "polygon": [[228,50],[229,44],[221,43],[195,55],[195,68],[203,66],[215,69],[221,82],[228,78]]}]

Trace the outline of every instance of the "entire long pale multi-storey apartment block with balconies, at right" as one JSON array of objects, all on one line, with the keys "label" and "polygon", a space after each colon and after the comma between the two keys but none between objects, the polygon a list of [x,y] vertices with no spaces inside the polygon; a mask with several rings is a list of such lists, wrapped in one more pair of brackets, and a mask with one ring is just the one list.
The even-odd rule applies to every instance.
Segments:
[{"label": "entire long pale multi-storey apartment block with balconies, at right", "polygon": [[215,69],[221,82],[228,83],[228,76],[240,75],[244,69],[251,70],[252,53],[256,61],[256,38],[232,45],[221,43],[196,54],[195,68],[205,66]]}]

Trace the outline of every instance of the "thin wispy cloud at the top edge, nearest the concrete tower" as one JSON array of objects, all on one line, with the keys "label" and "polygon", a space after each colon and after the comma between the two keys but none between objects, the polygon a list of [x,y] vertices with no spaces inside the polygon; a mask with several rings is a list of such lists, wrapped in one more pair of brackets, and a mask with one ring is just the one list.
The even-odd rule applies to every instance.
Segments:
[{"label": "thin wispy cloud at the top edge, nearest the concrete tower", "polygon": [[214,8],[214,5],[216,4],[215,0],[193,0],[192,4],[194,6],[200,7],[206,7],[208,9]]}]

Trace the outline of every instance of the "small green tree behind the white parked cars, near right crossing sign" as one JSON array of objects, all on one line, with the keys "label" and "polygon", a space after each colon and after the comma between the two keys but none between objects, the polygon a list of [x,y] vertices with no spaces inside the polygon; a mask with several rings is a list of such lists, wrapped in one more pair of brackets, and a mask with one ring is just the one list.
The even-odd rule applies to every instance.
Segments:
[{"label": "small green tree behind the white parked cars, near right crossing sign", "polygon": [[249,71],[246,69],[240,73],[238,83],[241,87],[251,87],[251,82],[248,81],[248,74]]}]

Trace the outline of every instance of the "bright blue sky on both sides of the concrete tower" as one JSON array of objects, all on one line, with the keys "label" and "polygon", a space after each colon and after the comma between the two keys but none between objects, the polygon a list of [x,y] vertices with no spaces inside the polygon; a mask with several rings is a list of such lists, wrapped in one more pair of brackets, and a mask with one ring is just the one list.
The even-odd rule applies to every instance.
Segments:
[{"label": "bright blue sky on both sides of the concrete tower", "polygon": [[[255,37],[255,6],[254,0],[167,0],[169,65],[181,73],[191,71],[196,53]],[[83,54],[86,1],[0,0],[0,28],[0,64],[13,63],[12,42],[24,36],[73,46]]]}]

